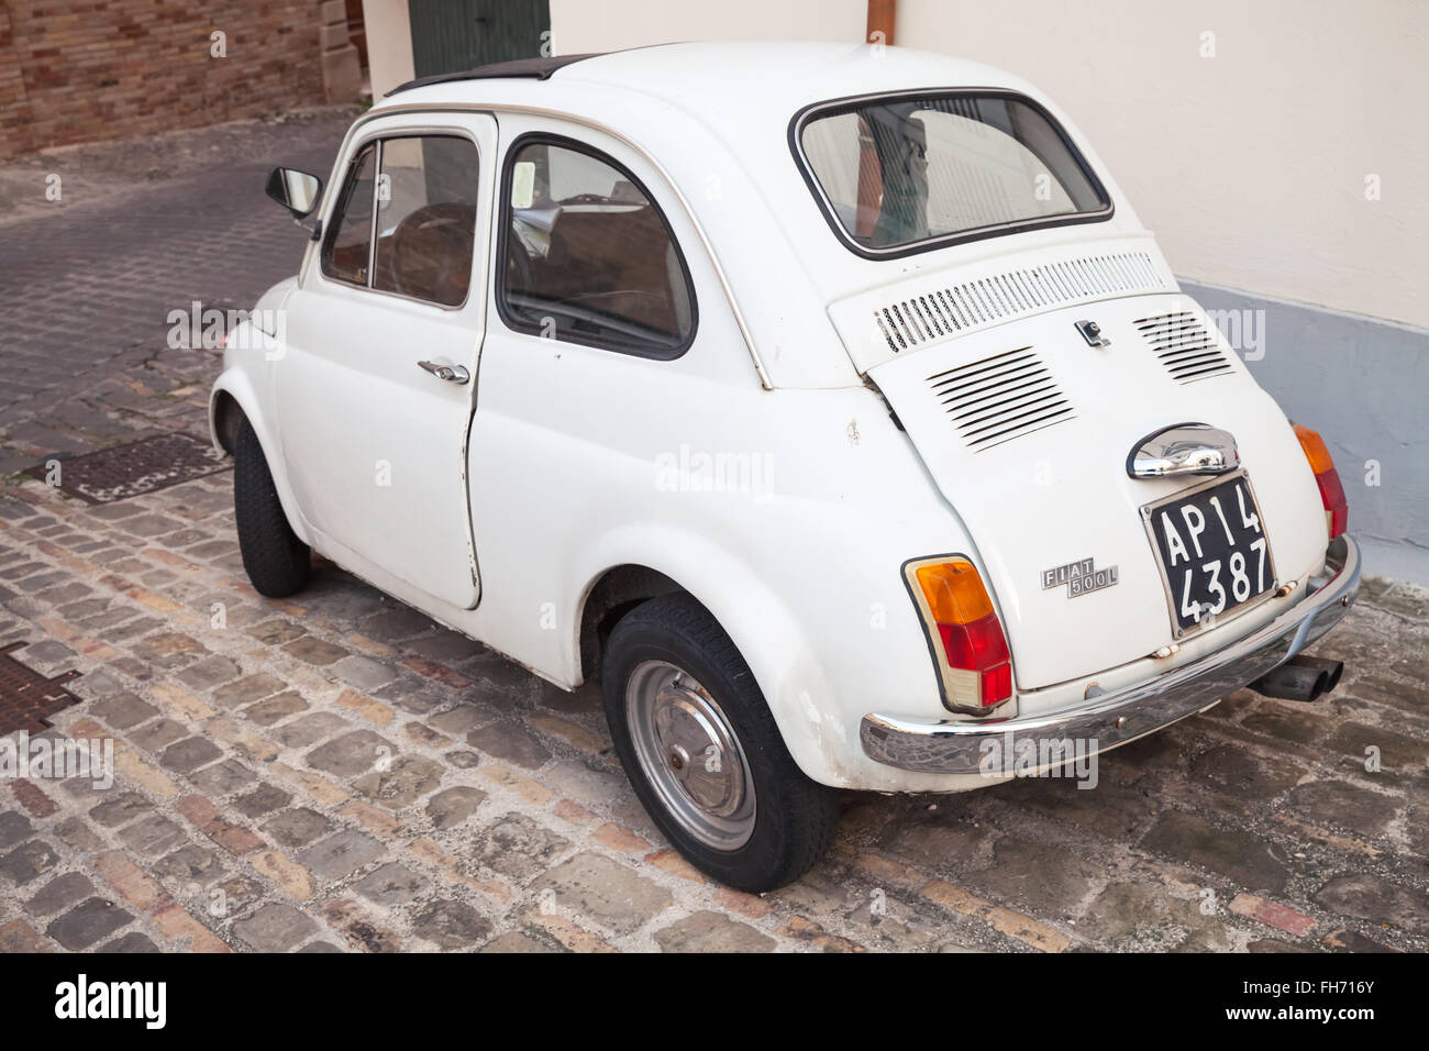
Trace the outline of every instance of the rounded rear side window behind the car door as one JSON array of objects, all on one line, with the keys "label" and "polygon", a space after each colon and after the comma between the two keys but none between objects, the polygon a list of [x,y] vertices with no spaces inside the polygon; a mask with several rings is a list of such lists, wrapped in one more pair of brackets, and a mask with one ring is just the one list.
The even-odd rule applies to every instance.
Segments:
[{"label": "rounded rear side window behind the car door", "polygon": [[694,293],[670,226],[613,159],[527,137],[503,179],[497,306],[519,332],[649,357],[693,339]]}]

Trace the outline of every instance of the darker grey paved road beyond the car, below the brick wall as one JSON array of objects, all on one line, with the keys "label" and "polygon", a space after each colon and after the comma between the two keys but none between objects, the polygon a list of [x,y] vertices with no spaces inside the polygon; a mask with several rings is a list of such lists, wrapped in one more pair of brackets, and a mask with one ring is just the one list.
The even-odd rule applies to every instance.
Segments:
[{"label": "darker grey paved road beyond the car, below the brick wall", "polygon": [[[264,196],[264,176],[282,163],[326,180],[353,113],[67,147],[0,167],[0,419],[10,432],[0,470],[23,459],[16,442],[73,448],[49,426],[56,396],[83,426],[76,380],[150,353],[170,310],[252,307],[293,272],[306,235]],[[46,199],[50,176],[57,202]]]}]

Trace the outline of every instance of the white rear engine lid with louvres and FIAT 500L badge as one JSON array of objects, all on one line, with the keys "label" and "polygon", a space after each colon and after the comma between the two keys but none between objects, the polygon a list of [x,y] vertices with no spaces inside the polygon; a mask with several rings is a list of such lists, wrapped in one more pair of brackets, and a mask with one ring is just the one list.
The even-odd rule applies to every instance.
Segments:
[{"label": "white rear engine lid with louvres and FIAT 500L badge", "polygon": [[1323,559],[1323,510],[1295,433],[1186,296],[1087,299],[935,336],[867,376],[977,546],[1017,689],[1143,658],[1185,631],[1142,509],[1208,479],[1130,478],[1147,435],[1189,422],[1230,432],[1275,573]]}]

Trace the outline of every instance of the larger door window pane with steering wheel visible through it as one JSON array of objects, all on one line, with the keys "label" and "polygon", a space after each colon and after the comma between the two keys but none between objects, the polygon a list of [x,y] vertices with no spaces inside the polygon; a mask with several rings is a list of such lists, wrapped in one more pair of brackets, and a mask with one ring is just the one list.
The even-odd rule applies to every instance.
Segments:
[{"label": "larger door window pane with steering wheel visible through it", "polygon": [[476,143],[384,139],[373,287],[442,306],[466,302],[476,236]]}]

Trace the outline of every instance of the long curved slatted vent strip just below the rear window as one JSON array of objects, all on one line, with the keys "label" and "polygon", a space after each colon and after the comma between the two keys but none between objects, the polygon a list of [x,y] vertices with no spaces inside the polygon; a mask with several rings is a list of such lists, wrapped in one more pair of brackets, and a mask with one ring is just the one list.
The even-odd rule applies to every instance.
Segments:
[{"label": "long curved slatted vent strip just below the rear window", "polygon": [[873,320],[893,353],[1013,317],[1107,296],[1167,292],[1145,252],[1027,266],[886,303]]}]

